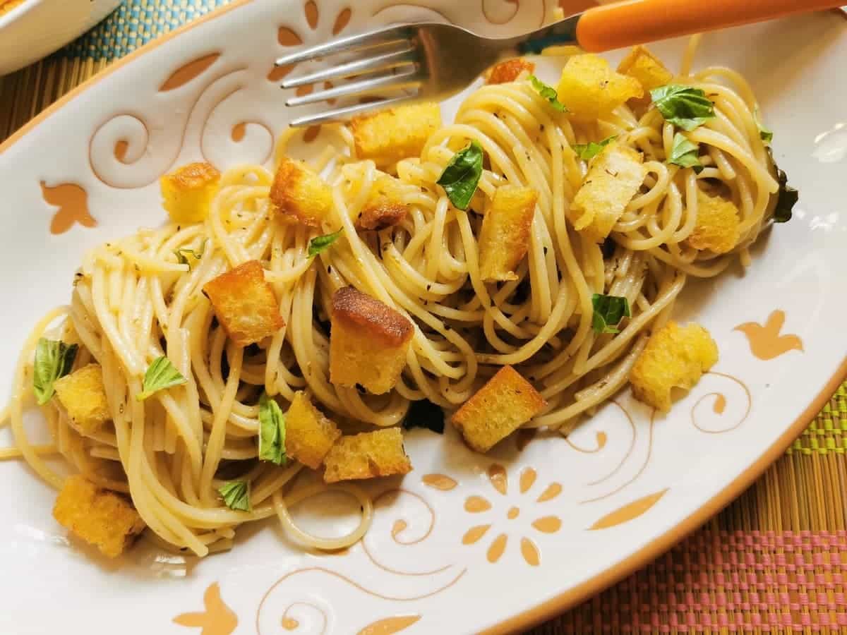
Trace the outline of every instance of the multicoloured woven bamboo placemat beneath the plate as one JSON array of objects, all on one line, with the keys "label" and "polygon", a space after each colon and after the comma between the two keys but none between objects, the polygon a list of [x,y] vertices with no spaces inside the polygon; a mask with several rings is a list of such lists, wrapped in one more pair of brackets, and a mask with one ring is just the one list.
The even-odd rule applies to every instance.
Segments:
[{"label": "multicoloured woven bamboo placemat beneath the plate", "polygon": [[[123,0],[69,47],[0,78],[0,141],[113,59],[227,2]],[[847,633],[845,450],[847,384],[706,527],[532,635]]]}]

